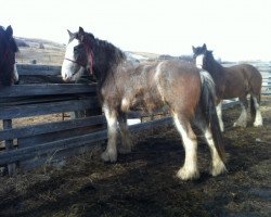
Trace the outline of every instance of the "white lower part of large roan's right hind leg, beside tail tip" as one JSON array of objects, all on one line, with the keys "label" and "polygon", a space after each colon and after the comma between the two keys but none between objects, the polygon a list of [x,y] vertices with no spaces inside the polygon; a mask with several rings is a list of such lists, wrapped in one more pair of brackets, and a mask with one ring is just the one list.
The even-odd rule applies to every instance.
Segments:
[{"label": "white lower part of large roan's right hind leg, beside tail tip", "polygon": [[210,153],[211,153],[211,175],[218,176],[224,171],[227,171],[224,163],[220,158],[218,151],[216,149],[212,135],[210,132],[210,129],[207,128],[204,132],[205,139],[209,145]]}]

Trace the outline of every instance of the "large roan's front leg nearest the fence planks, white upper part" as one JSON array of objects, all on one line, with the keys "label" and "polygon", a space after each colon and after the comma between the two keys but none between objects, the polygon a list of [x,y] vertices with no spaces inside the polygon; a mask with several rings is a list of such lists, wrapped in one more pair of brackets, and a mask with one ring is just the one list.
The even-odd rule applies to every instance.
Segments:
[{"label": "large roan's front leg nearest the fence planks, white upper part", "polygon": [[101,157],[104,162],[117,161],[117,113],[115,110],[109,110],[107,105],[103,106],[103,111],[107,122],[107,146]]}]

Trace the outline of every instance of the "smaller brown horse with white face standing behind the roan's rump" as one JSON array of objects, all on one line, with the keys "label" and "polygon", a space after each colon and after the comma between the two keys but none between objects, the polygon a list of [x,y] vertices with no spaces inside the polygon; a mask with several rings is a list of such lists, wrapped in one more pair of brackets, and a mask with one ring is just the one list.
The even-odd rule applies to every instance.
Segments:
[{"label": "smaller brown horse with white face standing behind the roan's rump", "polygon": [[260,113],[260,93],[262,77],[258,69],[249,64],[240,64],[231,67],[223,67],[212,55],[212,51],[208,51],[206,44],[203,47],[192,47],[196,66],[210,73],[217,92],[217,114],[219,118],[220,129],[223,131],[222,122],[222,100],[238,98],[242,113],[234,123],[234,127],[247,126],[247,94],[250,94],[250,113],[254,126],[262,126],[262,117]]}]

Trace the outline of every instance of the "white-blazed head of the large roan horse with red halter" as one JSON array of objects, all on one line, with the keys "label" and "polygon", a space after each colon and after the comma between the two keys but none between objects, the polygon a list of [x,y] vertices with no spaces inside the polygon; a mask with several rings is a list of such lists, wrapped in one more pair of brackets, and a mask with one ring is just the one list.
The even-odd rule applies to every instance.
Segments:
[{"label": "white-blazed head of the large roan horse with red halter", "polygon": [[75,81],[82,76],[86,69],[92,72],[93,52],[90,47],[90,36],[92,35],[88,34],[88,37],[86,37],[87,34],[81,27],[74,34],[68,30],[68,35],[69,41],[66,47],[61,74],[63,80]]}]

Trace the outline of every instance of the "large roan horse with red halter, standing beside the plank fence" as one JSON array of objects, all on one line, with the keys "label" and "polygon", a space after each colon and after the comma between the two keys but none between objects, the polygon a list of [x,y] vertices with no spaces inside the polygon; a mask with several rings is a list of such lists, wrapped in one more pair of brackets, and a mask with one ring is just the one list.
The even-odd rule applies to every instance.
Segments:
[{"label": "large roan horse with red halter, standing beside the plank fence", "polygon": [[[177,176],[183,180],[199,176],[197,141],[191,127],[192,122],[203,130],[210,148],[211,175],[225,171],[222,136],[215,107],[215,87],[209,74],[199,74],[194,64],[181,61],[133,65],[127,63],[121,50],[85,33],[81,27],[75,34],[68,33],[70,38],[62,77],[68,81],[87,68],[98,79],[98,92],[108,130],[103,161],[116,162],[117,152],[131,151],[126,115],[129,108],[140,104],[152,112],[167,104],[185,150],[184,165]],[[118,126],[121,144],[117,148]]]}]

